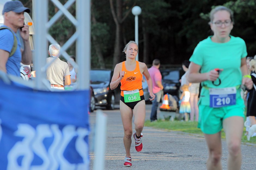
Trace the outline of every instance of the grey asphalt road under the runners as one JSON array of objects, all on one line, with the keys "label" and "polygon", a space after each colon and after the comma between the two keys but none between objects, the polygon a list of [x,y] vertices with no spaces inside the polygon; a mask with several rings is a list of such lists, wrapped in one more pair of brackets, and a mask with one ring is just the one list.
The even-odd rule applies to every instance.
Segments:
[{"label": "grey asphalt road under the runners", "polygon": [[[108,116],[105,169],[206,169],[208,151],[203,136],[144,127],[142,152],[136,152],[132,139],[132,167],[123,167],[125,150],[123,125],[119,106],[116,110],[103,110]],[[146,120],[150,118],[151,105],[146,105]],[[93,134],[96,112],[90,114],[90,169],[93,169]],[[133,125],[134,130],[134,125]],[[135,132],[135,130],[134,130]],[[223,169],[227,169],[227,146],[223,140]],[[242,170],[256,169],[256,146],[242,145]]]}]

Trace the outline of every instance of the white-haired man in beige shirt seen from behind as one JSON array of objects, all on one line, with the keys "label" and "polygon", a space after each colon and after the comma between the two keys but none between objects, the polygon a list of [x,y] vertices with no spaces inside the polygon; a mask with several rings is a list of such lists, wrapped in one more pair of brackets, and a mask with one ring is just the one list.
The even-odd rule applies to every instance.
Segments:
[{"label": "white-haired man in beige shirt seen from behind", "polygon": [[[49,46],[48,54],[50,55],[50,57],[46,59],[46,62],[53,63],[46,70],[46,78],[50,81],[51,88],[58,88],[64,90],[64,85],[70,85],[71,79],[68,69],[68,63],[59,59],[60,45],[51,44]],[[64,82],[63,78],[65,79]]]}]

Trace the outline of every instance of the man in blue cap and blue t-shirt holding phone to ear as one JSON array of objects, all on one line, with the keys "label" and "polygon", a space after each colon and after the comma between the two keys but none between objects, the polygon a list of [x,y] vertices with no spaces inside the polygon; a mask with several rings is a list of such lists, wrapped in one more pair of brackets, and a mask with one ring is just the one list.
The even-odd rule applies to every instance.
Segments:
[{"label": "man in blue cap and blue t-shirt holding phone to ear", "polygon": [[[30,12],[30,9],[24,7],[20,1],[6,2],[2,11],[4,16],[2,27],[5,29],[0,30],[0,70],[16,76],[20,76],[20,62],[29,65],[32,60],[29,27],[24,24],[24,12]],[[24,49],[20,48],[18,30],[24,42]]]}]

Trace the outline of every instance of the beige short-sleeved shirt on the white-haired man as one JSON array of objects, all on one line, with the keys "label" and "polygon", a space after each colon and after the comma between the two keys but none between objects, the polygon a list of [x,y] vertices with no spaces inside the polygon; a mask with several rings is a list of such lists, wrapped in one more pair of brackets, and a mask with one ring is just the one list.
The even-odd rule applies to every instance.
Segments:
[{"label": "beige short-sleeved shirt on the white-haired man", "polygon": [[53,63],[46,70],[46,78],[50,81],[51,84],[64,86],[64,76],[70,75],[68,63],[60,60],[59,57],[55,56],[46,58],[47,63],[52,61]]}]

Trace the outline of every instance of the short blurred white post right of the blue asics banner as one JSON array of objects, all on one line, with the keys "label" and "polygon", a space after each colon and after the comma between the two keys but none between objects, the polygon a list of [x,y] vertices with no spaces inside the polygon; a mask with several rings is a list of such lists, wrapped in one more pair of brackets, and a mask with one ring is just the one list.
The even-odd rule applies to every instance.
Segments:
[{"label": "short blurred white post right of the blue asics banner", "polygon": [[102,111],[96,112],[96,126],[95,126],[95,144],[94,154],[95,159],[93,163],[93,169],[103,170],[105,162],[105,147],[106,147],[106,127],[107,116]]}]

